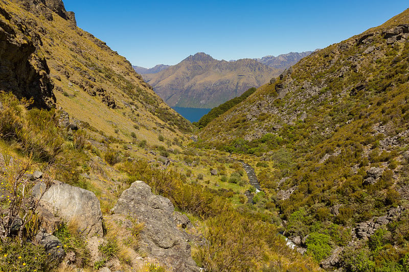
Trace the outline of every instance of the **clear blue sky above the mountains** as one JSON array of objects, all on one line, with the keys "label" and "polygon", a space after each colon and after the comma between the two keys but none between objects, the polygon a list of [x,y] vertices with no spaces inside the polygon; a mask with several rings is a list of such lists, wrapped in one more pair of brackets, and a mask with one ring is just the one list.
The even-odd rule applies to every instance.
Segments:
[{"label": "clear blue sky above the mountains", "polygon": [[132,65],[312,51],[345,40],[409,8],[407,0],[63,0],[78,27]]}]

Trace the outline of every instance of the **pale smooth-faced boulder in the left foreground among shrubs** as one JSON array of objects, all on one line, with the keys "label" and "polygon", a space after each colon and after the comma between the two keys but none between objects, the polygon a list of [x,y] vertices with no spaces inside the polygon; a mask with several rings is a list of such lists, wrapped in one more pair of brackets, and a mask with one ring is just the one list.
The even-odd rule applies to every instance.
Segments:
[{"label": "pale smooth-faced boulder in the left foreground among shrubs", "polygon": [[[39,197],[45,189],[44,183],[38,183],[33,193]],[[56,182],[43,194],[41,205],[77,224],[78,231],[84,236],[103,236],[100,203],[93,192]]]}]

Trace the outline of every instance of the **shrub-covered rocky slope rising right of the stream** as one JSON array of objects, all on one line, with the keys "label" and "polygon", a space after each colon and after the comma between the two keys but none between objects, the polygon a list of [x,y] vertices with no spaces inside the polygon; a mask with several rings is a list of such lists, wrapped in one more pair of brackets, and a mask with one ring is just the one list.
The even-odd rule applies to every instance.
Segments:
[{"label": "shrub-covered rocky slope rising right of the stream", "polygon": [[198,146],[274,164],[262,187],[286,235],[319,261],[333,254],[325,266],[408,267],[408,39],[406,10],[302,59],[199,133]]}]

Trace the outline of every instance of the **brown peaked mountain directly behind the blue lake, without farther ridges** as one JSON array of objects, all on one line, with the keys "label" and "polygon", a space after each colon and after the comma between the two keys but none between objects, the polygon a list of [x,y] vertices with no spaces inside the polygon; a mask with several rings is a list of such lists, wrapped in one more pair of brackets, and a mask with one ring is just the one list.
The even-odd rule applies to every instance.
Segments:
[{"label": "brown peaked mountain directly behind the blue lake, without farther ridges", "polygon": [[218,61],[197,53],[144,78],[172,107],[213,108],[277,75],[277,69],[255,60]]}]

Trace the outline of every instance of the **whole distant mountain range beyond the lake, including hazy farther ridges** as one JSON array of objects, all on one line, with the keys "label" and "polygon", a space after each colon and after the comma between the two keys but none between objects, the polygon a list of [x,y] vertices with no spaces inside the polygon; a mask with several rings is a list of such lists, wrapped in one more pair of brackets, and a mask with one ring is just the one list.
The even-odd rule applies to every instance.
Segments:
[{"label": "whole distant mountain range beyond the lake, including hazy farther ridges", "polygon": [[[291,52],[277,57],[266,56],[254,60],[277,69],[271,73],[271,76],[277,76],[279,72],[296,64],[300,59],[311,53],[312,52]],[[169,66],[160,64],[151,69],[139,66],[133,67],[135,71],[141,73],[149,84],[153,85],[154,90],[161,95],[170,106],[192,108],[213,108],[231,98],[240,96],[248,88],[258,87],[262,84],[263,80],[265,81],[265,78],[258,79],[257,73],[260,73],[260,71],[264,74],[268,72],[268,69],[265,70],[265,67],[260,68],[257,63],[252,62],[249,59],[231,60],[229,62],[220,61],[220,64],[218,64],[219,67],[212,68],[205,65],[205,70],[203,70],[202,67],[198,68],[197,71],[195,71],[194,68],[189,68],[188,72],[185,73],[181,71],[180,67],[184,65],[189,66],[189,64],[187,64],[189,62],[214,63],[215,61],[216,60],[210,55],[197,53],[177,64],[179,65],[178,68],[163,73],[162,76],[151,74],[161,72],[169,67],[174,67],[175,65]],[[229,66],[229,68],[226,68],[226,65]],[[229,76],[223,76],[223,73],[225,74],[226,71],[230,72]],[[175,73],[175,75],[173,75],[173,73]],[[176,76],[176,74],[178,76]],[[237,77],[237,79],[235,79],[235,77]],[[176,78],[178,81],[177,83],[175,82]],[[181,80],[183,80],[183,82],[181,82]],[[235,83],[236,81],[237,83]],[[221,88],[226,88],[226,90],[222,91]]]}]

